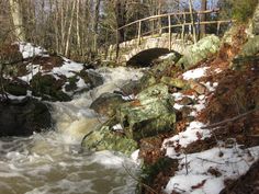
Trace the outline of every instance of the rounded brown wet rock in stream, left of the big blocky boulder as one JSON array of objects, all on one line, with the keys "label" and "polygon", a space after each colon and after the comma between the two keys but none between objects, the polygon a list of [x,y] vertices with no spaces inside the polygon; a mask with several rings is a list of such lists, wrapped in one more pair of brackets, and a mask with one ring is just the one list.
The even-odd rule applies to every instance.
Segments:
[{"label": "rounded brown wet rock in stream, left of the big blocky boulder", "polygon": [[101,115],[112,116],[115,110],[122,103],[126,102],[122,95],[116,93],[103,93],[92,102],[90,109],[94,110]]}]

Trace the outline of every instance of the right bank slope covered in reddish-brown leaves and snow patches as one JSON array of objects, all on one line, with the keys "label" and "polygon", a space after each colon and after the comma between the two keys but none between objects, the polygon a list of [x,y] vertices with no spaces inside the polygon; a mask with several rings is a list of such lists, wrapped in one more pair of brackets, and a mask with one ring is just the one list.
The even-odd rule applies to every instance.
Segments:
[{"label": "right bank slope covered in reddish-brown leaves and snow patches", "polygon": [[[216,56],[179,75],[182,79],[194,77],[206,92],[172,93],[179,103],[185,96],[196,101],[191,113],[195,119],[180,116],[173,133],[149,140],[153,149],[140,147],[145,163],[168,157],[173,160],[158,170],[151,190],[145,193],[259,193],[258,61],[243,62],[237,70],[232,64],[245,42],[244,33],[240,28],[232,46],[223,44]],[[183,107],[174,105],[180,115]]]}]

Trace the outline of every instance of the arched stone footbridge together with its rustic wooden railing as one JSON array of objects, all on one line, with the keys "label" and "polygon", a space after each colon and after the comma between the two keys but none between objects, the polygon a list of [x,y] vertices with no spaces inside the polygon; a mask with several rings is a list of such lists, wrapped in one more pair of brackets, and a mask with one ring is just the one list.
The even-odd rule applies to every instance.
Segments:
[{"label": "arched stone footbridge together with its rustic wooden railing", "polygon": [[[199,18],[202,14],[215,13],[217,11],[218,9],[196,12],[167,13],[148,16],[128,23],[116,30],[116,44],[110,46],[106,59],[124,65],[138,64],[140,66],[148,66],[148,62],[153,59],[171,52],[183,55],[184,48],[196,42],[201,25],[214,24],[216,25],[215,34],[218,34],[222,24],[232,23],[229,20],[203,22],[199,22],[200,20],[198,20],[196,22],[187,22],[187,15],[196,14],[195,18]],[[165,18],[167,20],[166,26],[161,25],[158,28],[153,28],[148,32],[144,31],[145,22],[153,22],[162,19],[165,21]],[[121,42],[120,31],[133,26],[136,26],[136,37],[131,41]]]}]

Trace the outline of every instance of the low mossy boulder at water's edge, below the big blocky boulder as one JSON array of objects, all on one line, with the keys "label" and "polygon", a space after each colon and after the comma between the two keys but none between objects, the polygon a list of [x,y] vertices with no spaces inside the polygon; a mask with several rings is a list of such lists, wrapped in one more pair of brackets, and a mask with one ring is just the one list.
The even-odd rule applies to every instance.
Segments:
[{"label": "low mossy boulder at water's edge, below the big blocky boulder", "polygon": [[87,134],[81,142],[82,147],[91,151],[112,150],[131,155],[137,149],[137,142],[126,136],[112,132],[109,126]]}]

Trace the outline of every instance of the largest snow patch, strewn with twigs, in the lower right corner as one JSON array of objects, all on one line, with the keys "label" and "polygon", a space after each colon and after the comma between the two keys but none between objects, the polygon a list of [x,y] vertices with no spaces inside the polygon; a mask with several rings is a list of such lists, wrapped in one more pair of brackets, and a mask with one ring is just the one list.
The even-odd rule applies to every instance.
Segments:
[{"label": "largest snow patch, strewn with twigs, in the lower right corner", "polygon": [[[179,171],[168,182],[165,192],[182,194],[218,194],[224,180],[245,174],[259,158],[259,147],[240,149],[216,147],[210,150],[178,157]],[[188,169],[188,173],[187,173]]]}]

